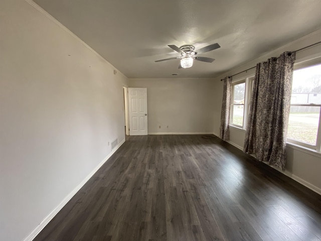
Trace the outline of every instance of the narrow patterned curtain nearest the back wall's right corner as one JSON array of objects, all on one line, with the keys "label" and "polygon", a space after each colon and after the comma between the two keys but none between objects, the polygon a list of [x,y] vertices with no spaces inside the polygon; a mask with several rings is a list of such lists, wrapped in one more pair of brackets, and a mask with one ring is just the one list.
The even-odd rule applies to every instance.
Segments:
[{"label": "narrow patterned curtain nearest the back wall's right corner", "polygon": [[232,96],[232,77],[224,78],[223,87],[223,101],[221,112],[221,126],[220,126],[220,138],[223,141],[230,139],[230,109],[231,109],[231,96]]}]

